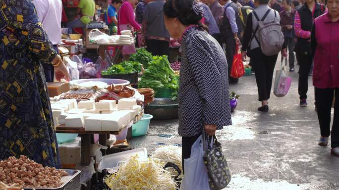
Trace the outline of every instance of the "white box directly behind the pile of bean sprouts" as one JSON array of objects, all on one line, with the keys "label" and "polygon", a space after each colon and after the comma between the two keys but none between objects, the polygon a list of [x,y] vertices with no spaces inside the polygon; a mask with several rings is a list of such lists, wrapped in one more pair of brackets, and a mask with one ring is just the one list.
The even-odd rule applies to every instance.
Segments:
[{"label": "white box directly behind the pile of bean sprouts", "polygon": [[118,166],[118,163],[121,161],[128,161],[130,157],[138,155],[139,161],[147,160],[147,149],[146,148],[137,148],[133,150],[127,150],[123,152],[118,152],[115,154],[110,154],[103,156],[103,160],[98,166],[98,172],[103,171],[104,169],[114,168]]}]

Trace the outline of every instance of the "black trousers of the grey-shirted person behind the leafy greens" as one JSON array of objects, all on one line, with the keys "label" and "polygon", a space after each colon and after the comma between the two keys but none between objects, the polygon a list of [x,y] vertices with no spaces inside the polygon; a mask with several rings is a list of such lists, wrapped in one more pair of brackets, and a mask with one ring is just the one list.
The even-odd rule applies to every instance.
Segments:
[{"label": "black trousers of the grey-shirted person behind the leafy greens", "polygon": [[151,52],[153,56],[167,55],[169,56],[169,42],[163,40],[146,40],[146,49]]}]

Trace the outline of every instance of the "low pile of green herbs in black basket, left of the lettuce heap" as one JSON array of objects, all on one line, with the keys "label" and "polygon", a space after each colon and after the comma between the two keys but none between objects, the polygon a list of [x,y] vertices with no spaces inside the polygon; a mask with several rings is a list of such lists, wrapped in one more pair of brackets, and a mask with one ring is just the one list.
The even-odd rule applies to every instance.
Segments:
[{"label": "low pile of green herbs in black basket, left of the lettuce heap", "polygon": [[120,64],[112,65],[106,71],[101,72],[101,75],[130,74],[136,72],[141,72],[141,64],[139,62],[123,61]]}]

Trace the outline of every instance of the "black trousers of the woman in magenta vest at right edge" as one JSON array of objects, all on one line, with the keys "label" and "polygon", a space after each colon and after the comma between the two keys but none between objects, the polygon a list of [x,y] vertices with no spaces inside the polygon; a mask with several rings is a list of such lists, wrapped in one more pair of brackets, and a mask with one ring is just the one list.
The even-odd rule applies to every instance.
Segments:
[{"label": "black trousers of the woman in magenta vest at right edge", "polygon": [[[336,103],[331,133],[331,107],[334,95],[336,95]],[[321,136],[330,137],[331,135],[332,148],[339,147],[339,88],[315,88],[315,99],[318,108],[318,119]]]}]

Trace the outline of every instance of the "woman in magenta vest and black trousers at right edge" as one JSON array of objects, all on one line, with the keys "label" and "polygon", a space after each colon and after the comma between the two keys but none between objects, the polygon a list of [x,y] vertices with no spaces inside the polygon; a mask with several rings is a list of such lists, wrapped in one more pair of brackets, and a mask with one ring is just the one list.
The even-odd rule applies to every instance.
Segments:
[{"label": "woman in magenta vest and black trousers at right edge", "polygon": [[[328,1],[328,12],[315,19],[311,32],[314,60],[313,85],[318,107],[321,137],[326,146],[331,134],[332,153],[339,156],[339,1]],[[332,133],[331,106],[336,96]]]}]

